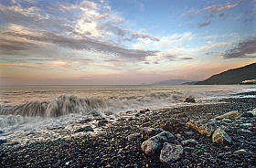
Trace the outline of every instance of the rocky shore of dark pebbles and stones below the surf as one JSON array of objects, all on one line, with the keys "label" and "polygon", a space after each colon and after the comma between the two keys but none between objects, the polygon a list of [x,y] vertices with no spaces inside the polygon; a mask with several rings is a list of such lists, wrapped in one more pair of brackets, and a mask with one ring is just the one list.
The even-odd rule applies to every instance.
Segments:
[{"label": "rocky shore of dark pebbles and stones below the surf", "polygon": [[[255,92],[250,94],[255,95]],[[218,103],[207,105],[141,110],[116,122],[101,119],[98,127],[102,129],[98,133],[22,146],[3,143],[0,146],[0,167],[255,168],[256,116],[253,112],[248,112],[255,108],[255,98],[238,98],[219,100]],[[216,120],[216,117],[233,110],[237,110],[239,117]],[[213,119],[216,120],[215,129],[225,131],[230,141],[224,138],[223,142],[213,142],[212,135],[200,133],[196,127],[187,125],[188,121]],[[172,124],[168,126],[168,122]],[[173,123],[178,126],[173,127]],[[80,131],[93,130],[87,126]],[[214,131],[210,134],[215,133]],[[145,154],[144,143],[161,132],[172,139],[165,141],[165,138],[160,138],[160,151],[163,148],[166,150],[164,155],[162,151]],[[165,132],[172,135],[166,135]],[[176,157],[165,162],[161,159],[161,154],[165,158],[166,152],[173,148],[172,145],[178,146],[182,152],[176,151]]]}]

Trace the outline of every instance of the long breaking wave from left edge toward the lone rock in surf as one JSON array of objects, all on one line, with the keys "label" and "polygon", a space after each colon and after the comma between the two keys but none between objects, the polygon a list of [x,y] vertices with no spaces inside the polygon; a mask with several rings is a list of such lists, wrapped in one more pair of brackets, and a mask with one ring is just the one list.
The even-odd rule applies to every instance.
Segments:
[{"label": "long breaking wave from left edge toward the lone rock in surf", "polygon": [[[2,107],[1,115],[21,115],[26,117],[59,117],[74,114],[89,114],[97,111],[101,113],[128,110],[143,107],[160,101],[176,101],[178,94],[149,93],[144,96],[131,96],[123,98],[111,97],[109,99],[87,97],[80,98],[74,95],[60,95],[50,101],[32,101],[11,107]],[[157,101],[158,100],[158,101]]]}]

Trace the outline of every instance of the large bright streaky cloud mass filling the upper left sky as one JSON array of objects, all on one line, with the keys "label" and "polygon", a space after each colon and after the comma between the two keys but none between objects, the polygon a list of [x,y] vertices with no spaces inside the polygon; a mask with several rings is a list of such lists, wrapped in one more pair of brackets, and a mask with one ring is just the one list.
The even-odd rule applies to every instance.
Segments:
[{"label": "large bright streaky cloud mass filling the upper left sky", "polygon": [[[3,19],[8,23],[1,26],[1,54],[19,56],[40,54],[54,57],[59,55],[59,51],[55,49],[58,46],[71,49],[70,53],[80,50],[101,53],[109,58],[113,56],[125,58],[126,61],[129,59],[143,61],[146,57],[155,56],[159,52],[124,46],[122,42],[126,40],[157,41],[159,38],[118,26],[123,22],[123,18],[112,13],[110,7],[103,1],[99,4],[83,1],[78,5],[68,3],[39,5],[39,7],[37,5],[37,2],[33,1],[27,2],[26,6],[0,4],[0,12],[5,14]],[[13,16],[15,19],[12,18],[10,22],[9,19]],[[37,20],[38,18],[40,19]],[[42,52],[38,53],[39,50]],[[85,60],[80,57],[71,59]]]}]

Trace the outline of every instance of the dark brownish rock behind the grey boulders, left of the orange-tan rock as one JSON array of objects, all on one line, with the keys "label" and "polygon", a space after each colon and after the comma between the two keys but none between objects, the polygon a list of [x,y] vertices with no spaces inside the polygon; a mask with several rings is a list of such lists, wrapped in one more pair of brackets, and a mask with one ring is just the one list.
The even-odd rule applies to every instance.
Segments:
[{"label": "dark brownish rock behind the grey boulders, left of the orange-tan rock", "polygon": [[165,131],[180,131],[186,122],[186,119],[165,119],[160,122],[159,127]]}]

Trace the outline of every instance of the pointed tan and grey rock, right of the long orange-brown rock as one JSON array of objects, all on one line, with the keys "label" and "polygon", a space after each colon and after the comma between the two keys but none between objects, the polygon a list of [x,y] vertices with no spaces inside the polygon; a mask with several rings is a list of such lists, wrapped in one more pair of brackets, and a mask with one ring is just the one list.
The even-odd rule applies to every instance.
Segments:
[{"label": "pointed tan and grey rock, right of the long orange-brown rock", "polygon": [[212,134],[212,142],[218,142],[224,144],[226,142],[231,142],[229,135],[223,131],[220,127]]}]

